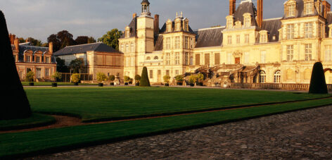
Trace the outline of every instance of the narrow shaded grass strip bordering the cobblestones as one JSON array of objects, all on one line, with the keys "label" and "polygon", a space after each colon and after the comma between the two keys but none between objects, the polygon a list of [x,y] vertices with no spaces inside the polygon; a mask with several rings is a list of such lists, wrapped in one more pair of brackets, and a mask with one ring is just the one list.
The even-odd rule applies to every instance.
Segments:
[{"label": "narrow shaded grass strip bordering the cobblestones", "polygon": [[133,137],[199,128],[329,104],[332,104],[332,99],[319,99],[139,121],[82,125],[25,133],[5,133],[0,134],[0,157],[8,158],[8,156],[13,157],[13,155],[23,156],[57,152],[63,149],[89,146],[91,144],[103,144]]}]

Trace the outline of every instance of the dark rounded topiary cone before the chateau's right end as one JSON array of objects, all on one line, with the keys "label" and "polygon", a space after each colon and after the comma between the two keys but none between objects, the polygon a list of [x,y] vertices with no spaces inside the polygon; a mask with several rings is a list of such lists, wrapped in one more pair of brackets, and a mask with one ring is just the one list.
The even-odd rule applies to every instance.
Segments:
[{"label": "dark rounded topiary cone before the chateau's right end", "polygon": [[312,68],[312,78],[310,81],[309,93],[327,94],[323,65],[320,62],[314,63]]}]

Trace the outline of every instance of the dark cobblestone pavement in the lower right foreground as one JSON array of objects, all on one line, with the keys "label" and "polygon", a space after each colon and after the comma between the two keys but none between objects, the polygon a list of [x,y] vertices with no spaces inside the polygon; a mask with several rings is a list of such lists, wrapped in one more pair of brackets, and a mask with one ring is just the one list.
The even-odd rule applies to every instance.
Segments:
[{"label": "dark cobblestone pavement in the lower right foreground", "polygon": [[29,159],[332,159],[332,106]]}]

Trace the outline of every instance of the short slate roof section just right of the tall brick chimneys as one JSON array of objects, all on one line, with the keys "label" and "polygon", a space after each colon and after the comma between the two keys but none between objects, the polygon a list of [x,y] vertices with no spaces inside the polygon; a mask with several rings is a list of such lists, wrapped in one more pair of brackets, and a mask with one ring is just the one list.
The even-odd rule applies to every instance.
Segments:
[{"label": "short slate roof section just right of the tall brick chimneys", "polygon": [[[279,41],[279,29],[281,28],[281,18],[274,18],[263,20],[262,30],[267,30],[269,32],[269,42]],[[273,37],[276,39],[273,39]]]}]

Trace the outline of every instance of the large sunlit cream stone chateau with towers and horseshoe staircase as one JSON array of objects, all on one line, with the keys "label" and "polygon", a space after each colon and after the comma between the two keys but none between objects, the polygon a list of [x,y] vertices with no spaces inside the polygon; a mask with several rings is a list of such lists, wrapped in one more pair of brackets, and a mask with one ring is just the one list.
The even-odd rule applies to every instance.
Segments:
[{"label": "large sunlit cream stone chateau with towers and horseshoe staircase", "polygon": [[[273,3],[272,1],[269,3]],[[227,82],[309,83],[312,66],[321,61],[326,82],[332,83],[331,5],[321,0],[288,0],[283,17],[263,19],[257,6],[229,0],[226,26],[193,31],[189,19],[177,13],[159,27],[148,0],[141,15],[133,15],[119,39],[124,74],[131,78],[148,68],[150,81],[164,75],[205,74],[206,85]]]}]

